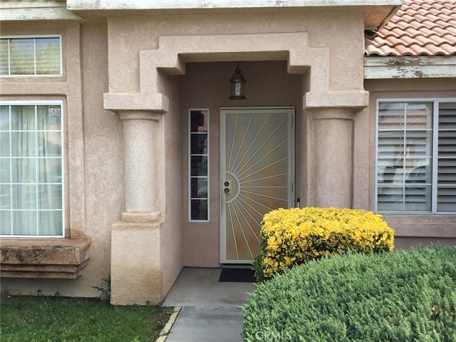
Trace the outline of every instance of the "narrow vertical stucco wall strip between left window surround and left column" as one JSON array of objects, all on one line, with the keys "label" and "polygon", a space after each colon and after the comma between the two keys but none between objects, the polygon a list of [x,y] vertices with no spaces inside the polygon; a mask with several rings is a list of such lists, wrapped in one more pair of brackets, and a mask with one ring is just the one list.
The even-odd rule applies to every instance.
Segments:
[{"label": "narrow vertical stucco wall strip between left window surround and left column", "polygon": [[[103,110],[108,89],[106,25],[83,25],[82,44],[86,232],[93,244],[80,286],[83,296],[98,296],[91,286],[106,286],[102,279],[110,274],[111,225],[123,207],[123,131],[118,115]],[[81,296],[81,288],[73,286]]]}]

